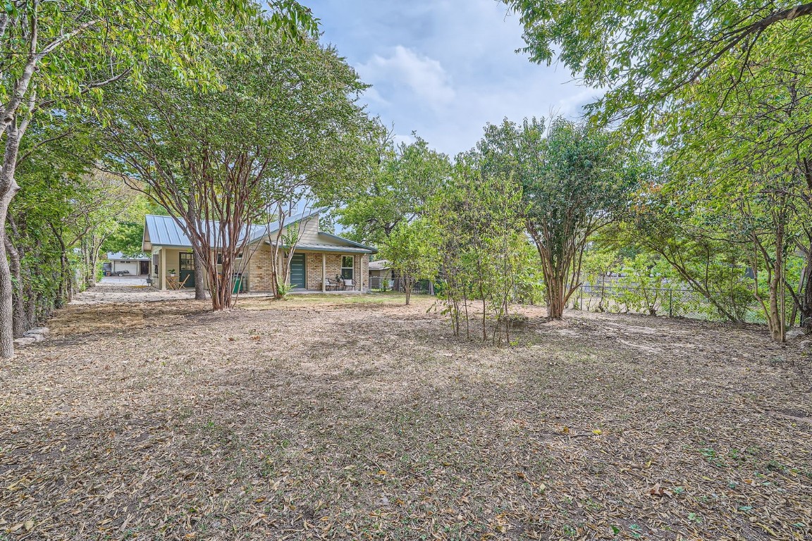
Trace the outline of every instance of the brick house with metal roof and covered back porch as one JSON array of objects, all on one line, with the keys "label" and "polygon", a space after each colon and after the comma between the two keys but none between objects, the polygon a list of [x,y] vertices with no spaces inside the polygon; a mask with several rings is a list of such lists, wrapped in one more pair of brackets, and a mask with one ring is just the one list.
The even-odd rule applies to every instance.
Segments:
[{"label": "brick house with metal roof and covered back porch", "polygon": [[[285,230],[298,231],[298,240],[292,247],[283,246],[280,260],[274,262],[273,247],[279,234],[279,224],[253,225],[246,232],[248,245],[235,265],[240,273],[241,289],[247,291],[273,291],[273,265],[282,270],[281,252],[288,257],[292,251],[290,272],[286,278],[294,290],[325,291],[324,278],[342,277],[352,280],[352,290],[369,290],[369,255],[377,251],[347,238],[319,230],[319,215],[326,208],[287,217]],[[214,227],[219,224],[214,223]],[[287,236],[287,235],[286,235]],[[170,289],[177,281],[186,288],[195,286],[192,243],[174,218],[148,215],[145,218],[143,250],[151,255],[150,276],[153,286]],[[170,274],[175,273],[175,277]]]}]

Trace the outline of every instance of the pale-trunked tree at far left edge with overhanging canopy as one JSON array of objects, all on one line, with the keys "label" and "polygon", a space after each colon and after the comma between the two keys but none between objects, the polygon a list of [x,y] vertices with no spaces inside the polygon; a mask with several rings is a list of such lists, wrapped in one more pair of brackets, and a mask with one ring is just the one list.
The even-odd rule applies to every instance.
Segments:
[{"label": "pale-trunked tree at far left edge with overhanging canopy", "polygon": [[[272,0],[279,28],[315,28],[294,0]],[[218,39],[219,24],[255,16],[252,0],[9,0],[0,10],[0,357],[14,354],[12,282],[6,258],[6,215],[19,185],[15,171],[28,126],[40,111],[97,108],[102,89],[140,79],[150,58],[205,83],[201,36]],[[89,105],[92,104],[92,105]],[[43,143],[44,144],[44,143]],[[28,150],[32,150],[29,148]]]}]

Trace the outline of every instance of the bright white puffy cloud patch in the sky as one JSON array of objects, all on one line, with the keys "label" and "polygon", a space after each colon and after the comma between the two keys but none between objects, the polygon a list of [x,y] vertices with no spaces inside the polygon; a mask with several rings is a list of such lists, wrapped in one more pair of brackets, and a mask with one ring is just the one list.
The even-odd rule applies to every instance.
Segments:
[{"label": "bright white puffy cloud patch in the sky", "polygon": [[[454,100],[456,92],[443,65],[403,45],[396,45],[389,57],[375,54],[358,67],[361,79],[381,88],[404,84],[428,105],[438,107]],[[378,91],[378,97],[381,96]]]}]

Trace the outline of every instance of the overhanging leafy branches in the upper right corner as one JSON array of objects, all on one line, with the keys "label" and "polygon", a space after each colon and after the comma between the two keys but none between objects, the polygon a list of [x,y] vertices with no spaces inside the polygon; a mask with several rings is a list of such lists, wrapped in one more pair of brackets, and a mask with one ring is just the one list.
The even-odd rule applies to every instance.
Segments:
[{"label": "overhanging leafy branches in the upper right corner", "polygon": [[[607,88],[592,110],[606,120],[654,127],[678,109],[675,92],[711,68],[725,77],[711,94],[717,105],[741,84],[758,81],[749,58],[767,69],[808,64],[812,3],[766,0],[503,0],[520,14],[525,53],[533,62],[559,58],[586,84]],[[808,75],[805,75],[808,76]]]}]

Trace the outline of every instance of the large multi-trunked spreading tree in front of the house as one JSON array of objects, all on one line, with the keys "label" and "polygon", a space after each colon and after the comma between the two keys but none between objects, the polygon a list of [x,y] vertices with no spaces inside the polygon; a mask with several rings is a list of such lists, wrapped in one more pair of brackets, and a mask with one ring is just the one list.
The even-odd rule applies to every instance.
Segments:
[{"label": "large multi-trunked spreading tree in front of the house", "polygon": [[214,310],[232,306],[239,255],[266,234],[279,202],[352,189],[368,123],[355,102],[365,86],[334,49],[256,21],[232,32],[208,53],[222,87],[190,88],[157,64],[143,92],[116,97],[106,122],[108,166],[175,217]]}]

